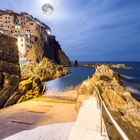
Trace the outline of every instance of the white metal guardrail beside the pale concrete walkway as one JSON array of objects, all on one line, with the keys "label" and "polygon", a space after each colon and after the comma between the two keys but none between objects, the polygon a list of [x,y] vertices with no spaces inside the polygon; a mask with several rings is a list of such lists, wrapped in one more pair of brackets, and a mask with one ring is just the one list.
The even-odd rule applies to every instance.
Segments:
[{"label": "white metal guardrail beside the pale concrete walkway", "polygon": [[127,137],[127,135],[123,132],[123,130],[121,129],[121,127],[118,125],[118,123],[114,120],[114,118],[112,117],[112,115],[110,114],[108,108],[106,107],[101,95],[100,95],[100,92],[99,90],[97,89],[97,87],[95,86],[95,91],[96,91],[96,95],[98,96],[98,99],[100,101],[100,103],[98,102],[99,106],[100,106],[100,109],[101,109],[101,135],[102,135],[102,128],[103,128],[103,115],[102,115],[102,111],[103,111],[103,108],[105,109],[108,117],[110,118],[110,120],[112,121],[113,125],[115,126],[115,128],[117,129],[117,131],[119,132],[119,134],[121,135],[121,137],[124,139],[124,140],[129,140],[129,138]]}]

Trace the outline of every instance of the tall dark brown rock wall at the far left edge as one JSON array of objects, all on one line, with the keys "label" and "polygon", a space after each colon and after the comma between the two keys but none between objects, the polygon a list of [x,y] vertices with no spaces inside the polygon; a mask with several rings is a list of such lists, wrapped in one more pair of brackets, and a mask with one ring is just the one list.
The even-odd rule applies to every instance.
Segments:
[{"label": "tall dark brown rock wall at the far left edge", "polygon": [[17,40],[0,34],[0,108],[18,88],[19,79]]}]

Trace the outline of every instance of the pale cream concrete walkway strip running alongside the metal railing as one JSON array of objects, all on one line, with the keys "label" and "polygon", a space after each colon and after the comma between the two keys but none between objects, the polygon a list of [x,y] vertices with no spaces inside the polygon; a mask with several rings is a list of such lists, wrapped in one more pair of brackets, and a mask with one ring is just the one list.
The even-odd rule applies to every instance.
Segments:
[{"label": "pale cream concrete walkway strip running alongside the metal railing", "polygon": [[101,112],[97,107],[95,97],[85,100],[80,108],[78,117],[69,140],[108,140],[107,134],[100,135]]}]

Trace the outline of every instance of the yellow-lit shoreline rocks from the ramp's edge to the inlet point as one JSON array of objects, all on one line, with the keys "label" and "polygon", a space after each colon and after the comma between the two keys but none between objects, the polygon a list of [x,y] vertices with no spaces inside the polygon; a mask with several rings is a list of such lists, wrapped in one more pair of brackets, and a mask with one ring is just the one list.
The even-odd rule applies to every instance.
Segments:
[{"label": "yellow-lit shoreline rocks from the ramp's edge to the inlet point", "polygon": [[22,73],[18,90],[10,96],[4,107],[42,96],[46,91],[44,81],[65,76],[70,71],[44,58],[38,64],[27,64]]}]

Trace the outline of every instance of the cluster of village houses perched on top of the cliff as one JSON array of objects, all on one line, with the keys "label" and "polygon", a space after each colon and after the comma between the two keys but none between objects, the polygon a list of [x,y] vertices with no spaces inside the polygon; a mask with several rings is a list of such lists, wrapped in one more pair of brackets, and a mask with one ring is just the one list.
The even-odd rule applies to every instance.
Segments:
[{"label": "cluster of village houses perched on top of the cliff", "polygon": [[51,34],[50,28],[37,18],[26,12],[18,14],[11,10],[0,10],[0,32],[17,38],[21,57],[34,46],[41,34],[44,34],[46,39]]}]

